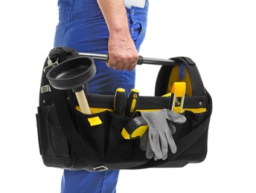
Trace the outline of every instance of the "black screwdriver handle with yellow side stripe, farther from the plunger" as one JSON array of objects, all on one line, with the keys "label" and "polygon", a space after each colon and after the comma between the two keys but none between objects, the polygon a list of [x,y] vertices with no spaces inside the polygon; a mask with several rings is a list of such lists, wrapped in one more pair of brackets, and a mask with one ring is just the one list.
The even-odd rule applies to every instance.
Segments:
[{"label": "black screwdriver handle with yellow side stripe, farther from the plunger", "polygon": [[136,107],[138,105],[138,96],[139,92],[137,89],[132,88],[131,91],[129,91],[128,99],[127,99],[127,109],[126,109],[126,116],[127,117],[133,117],[136,111]]}]

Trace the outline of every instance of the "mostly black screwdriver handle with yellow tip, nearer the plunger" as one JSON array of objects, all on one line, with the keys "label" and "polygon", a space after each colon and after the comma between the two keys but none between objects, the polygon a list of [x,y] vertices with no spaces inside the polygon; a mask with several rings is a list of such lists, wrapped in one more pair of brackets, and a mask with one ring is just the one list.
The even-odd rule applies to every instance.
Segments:
[{"label": "mostly black screwdriver handle with yellow tip, nearer the plunger", "polygon": [[114,110],[117,114],[124,115],[124,110],[127,105],[127,96],[124,88],[118,88],[115,91]]}]

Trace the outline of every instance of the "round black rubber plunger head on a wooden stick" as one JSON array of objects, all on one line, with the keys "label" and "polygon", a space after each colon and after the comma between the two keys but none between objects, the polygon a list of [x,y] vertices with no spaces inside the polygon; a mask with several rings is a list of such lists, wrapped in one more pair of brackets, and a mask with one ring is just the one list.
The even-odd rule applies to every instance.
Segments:
[{"label": "round black rubber plunger head on a wooden stick", "polygon": [[80,56],[68,59],[52,68],[46,74],[52,87],[59,90],[71,89],[74,92],[82,91],[96,73],[95,61],[91,57]]}]

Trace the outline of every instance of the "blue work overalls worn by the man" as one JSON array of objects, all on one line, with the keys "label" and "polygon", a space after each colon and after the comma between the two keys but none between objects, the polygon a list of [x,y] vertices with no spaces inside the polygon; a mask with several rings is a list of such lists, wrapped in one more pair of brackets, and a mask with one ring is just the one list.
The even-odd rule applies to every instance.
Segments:
[{"label": "blue work overalls worn by the man", "polygon": [[[148,0],[145,7],[127,8],[130,34],[139,50],[147,29]],[[78,52],[108,53],[109,30],[98,7],[97,0],[58,0],[59,24],[56,28],[54,48],[66,46]],[[89,93],[115,94],[116,88],[129,93],[135,87],[135,69],[116,71],[106,62],[95,61],[97,72],[89,82]],[[119,171],[68,171],[64,170],[63,193],[112,193]]]}]

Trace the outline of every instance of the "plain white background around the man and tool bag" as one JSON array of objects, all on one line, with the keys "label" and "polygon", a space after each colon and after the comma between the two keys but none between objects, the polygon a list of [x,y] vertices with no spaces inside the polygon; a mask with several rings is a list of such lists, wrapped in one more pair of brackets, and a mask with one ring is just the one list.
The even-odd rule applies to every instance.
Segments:
[{"label": "plain white background around the man and tool bag", "polygon": [[[253,3],[150,1],[140,54],[196,62],[214,104],[208,156],[181,169],[121,171],[118,192],[256,192]],[[57,11],[57,0],[1,2],[0,192],[60,192],[62,170],[43,165],[35,117]],[[153,96],[159,67],[137,71],[136,88]]]}]

